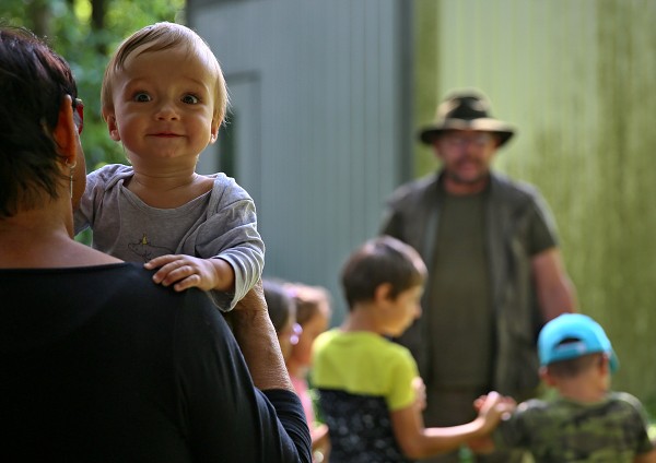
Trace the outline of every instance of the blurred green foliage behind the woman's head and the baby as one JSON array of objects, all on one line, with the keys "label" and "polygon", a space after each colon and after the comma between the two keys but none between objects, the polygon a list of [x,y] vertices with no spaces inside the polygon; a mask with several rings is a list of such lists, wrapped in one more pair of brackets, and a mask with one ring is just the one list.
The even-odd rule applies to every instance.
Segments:
[{"label": "blurred green foliage behind the woman's head and the baby", "polygon": [[[104,5],[103,26],[92,24],[94,4]],[[129,34],[157,21],[184,23],[185,0],[2,0],[3,25],[33,31],[70,63],[84,100],[82,143],[87,168],[125,162],[101,117],[101,84],[109,55]]]}]

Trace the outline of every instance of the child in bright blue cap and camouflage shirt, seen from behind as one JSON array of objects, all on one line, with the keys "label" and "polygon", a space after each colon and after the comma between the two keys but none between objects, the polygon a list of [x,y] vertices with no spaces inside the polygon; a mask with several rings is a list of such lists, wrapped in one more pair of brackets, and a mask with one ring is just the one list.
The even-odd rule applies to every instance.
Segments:
[{"label": "child in bright blue cap and camouflage shirt, seen from behind", "polygon": [[542,328],[538,353],[540,377],[555,396],[519,404],[478,451],[524,449],[536,463],[656,462],[643,405],[610,391],[619,363],[599,323],[561,314]]}]

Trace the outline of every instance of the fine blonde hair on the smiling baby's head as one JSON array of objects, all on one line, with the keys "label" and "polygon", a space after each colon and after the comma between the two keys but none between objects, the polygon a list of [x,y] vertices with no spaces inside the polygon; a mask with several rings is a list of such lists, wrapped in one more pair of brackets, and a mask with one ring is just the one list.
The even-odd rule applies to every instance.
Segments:
[{"label": "fine blonde hair on the smiling baby's head", "polygon": [[161,51],[169,48],[184,47],[190,52],[196,52],[204,61],[210,73],[215,78],[214,84],[214,120],[221,126],[227,110],[229,97],[227,86],[223,76],[223,71],[219,60],[210,49],[207,41],[196,32],[181,24],[161,22],[145,26],[131,36],[126,38],[116,49],[112,59],[105,69],[103,78],[103,87],[101,91],[101,105],[103,114],[105,110],[113,109],[113,83],[116,75],[120,73],[127,59],[134,50],[143,45],[148,47],[139,50],[139,54],[145,51]]}]

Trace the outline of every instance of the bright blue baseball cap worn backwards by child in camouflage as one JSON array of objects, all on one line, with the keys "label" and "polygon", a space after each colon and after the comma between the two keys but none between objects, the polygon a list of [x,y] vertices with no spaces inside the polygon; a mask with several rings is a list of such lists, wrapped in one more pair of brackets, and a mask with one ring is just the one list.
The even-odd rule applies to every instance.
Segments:
[{"label": "bright blue baseball cap worn backwards by child in camouflage", "polygon": [[[563,341],[572,340],[563,344]],[[606,353],[610,370],[619,368],[610,340],[599,323],[582,313],[563,313],[548,322],[538,337],[540,365],[569,360],[587,354]]]}]

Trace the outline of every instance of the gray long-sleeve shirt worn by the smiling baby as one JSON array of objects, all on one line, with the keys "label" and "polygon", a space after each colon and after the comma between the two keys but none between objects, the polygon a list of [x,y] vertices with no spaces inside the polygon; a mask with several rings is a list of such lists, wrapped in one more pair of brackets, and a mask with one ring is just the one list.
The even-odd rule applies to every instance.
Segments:
[{"label": "gray long-sleeve shirt worn by the smiling baby", "polygon": [[250,195],[233,178],[213,174],[212,191],[179,207],[156,209],[124,186],[133,174],[121,164],[89,174],[75,212],[75,234],[91,227],[95,249],[128,262],[173,253],[223,259],[235,272],[235,292],[212,292],[212,298],[220,309],[232,309],[265,265]]}]

